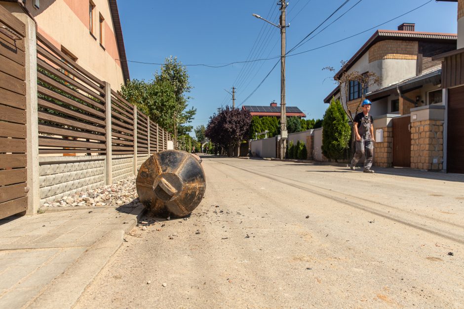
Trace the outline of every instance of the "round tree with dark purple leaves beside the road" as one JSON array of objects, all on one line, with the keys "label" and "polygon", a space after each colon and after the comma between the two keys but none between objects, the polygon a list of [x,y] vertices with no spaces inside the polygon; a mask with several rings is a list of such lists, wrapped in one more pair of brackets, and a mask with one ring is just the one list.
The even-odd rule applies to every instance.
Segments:
[{"label": "round tree with dark purple leaves beside the road", "polygon": [[247,136],[250,124],[251,115],[248,111],[226,106],[219,114],[210,117],[205,136],[222,149],[233,145],[235,156],[238,157],[240,143]]}]

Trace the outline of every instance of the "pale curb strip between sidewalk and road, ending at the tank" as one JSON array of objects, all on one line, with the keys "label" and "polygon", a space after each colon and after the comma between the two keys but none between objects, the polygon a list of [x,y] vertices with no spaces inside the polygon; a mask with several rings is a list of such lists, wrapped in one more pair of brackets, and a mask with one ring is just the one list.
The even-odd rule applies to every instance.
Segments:
[{"label": "pale curb strip between sidewalk and road, ending at the tank", "polygon": [[[87,285],[100,273],[121,246],[124,235],[140,220],[145,206],[137,206],[130,213],[121,212],[119,227],[97,240],[61,275],[46,285],[25,308],[72,308]],[[124,222],[127,222],[124,224]]]}]

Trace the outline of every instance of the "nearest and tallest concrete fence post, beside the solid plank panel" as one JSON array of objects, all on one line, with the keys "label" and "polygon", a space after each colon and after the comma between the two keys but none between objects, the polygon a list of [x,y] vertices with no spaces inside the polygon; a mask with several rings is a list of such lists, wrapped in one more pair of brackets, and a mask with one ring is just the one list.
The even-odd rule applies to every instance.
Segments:
[{"label": "nearest and tallest concrete fence post, beside the solid plank panel", "polygon": [[39,115],[37,112],[36,23],[25,13],[12,13],[26,25],[26,161],[28,204],[26,214],[37,214],[40,205]]}]

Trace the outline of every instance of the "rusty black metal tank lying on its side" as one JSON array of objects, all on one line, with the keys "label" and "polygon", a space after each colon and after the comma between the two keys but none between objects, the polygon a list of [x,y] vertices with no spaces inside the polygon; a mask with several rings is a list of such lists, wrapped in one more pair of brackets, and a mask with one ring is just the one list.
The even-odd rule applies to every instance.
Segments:
[{"label": "rusty black metal tank lying on its side", "polygon": [[179,150],[160,151],[148,158],[136,179],[140,202],[154,215],[183,217],[191,213],[206,190],[206,178],[197,158]]}]

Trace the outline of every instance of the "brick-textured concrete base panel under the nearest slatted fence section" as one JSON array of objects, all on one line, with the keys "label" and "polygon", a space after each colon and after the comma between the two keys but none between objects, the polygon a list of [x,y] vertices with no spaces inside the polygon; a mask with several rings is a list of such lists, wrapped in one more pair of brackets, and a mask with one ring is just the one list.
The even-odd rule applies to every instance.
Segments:
[{"label": "brick-textured concrete base panel under the nearest slatted fence section", "polygon": [[105,184],[105,156],[40,157],[40,206]]}]

